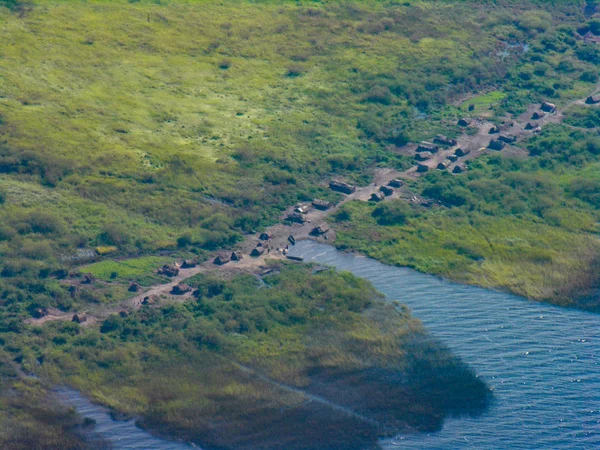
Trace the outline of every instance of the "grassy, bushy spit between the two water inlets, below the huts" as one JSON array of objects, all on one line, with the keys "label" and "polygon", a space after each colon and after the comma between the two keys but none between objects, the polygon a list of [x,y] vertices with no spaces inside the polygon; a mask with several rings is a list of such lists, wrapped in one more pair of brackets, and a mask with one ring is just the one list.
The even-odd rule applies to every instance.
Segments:
[{"label": "grassy, bushy spit between the two water inlets, below the huts", "polygon": [[[11,335],[26,369],[206,449],[359,449],[479,414],[485,384],[349,273],[198,276],[198,298]],[[40,365],[41,362],[41,365]]]}]

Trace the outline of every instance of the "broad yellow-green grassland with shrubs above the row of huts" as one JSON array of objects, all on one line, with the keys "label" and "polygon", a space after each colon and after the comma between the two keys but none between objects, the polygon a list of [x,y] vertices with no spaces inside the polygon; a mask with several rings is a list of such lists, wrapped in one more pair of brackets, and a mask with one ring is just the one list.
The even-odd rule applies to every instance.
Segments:
[{"label": "broad yellow-green grassland with shrubs above the row of huts", "polygon": [[576,1],[2,5],[12,314],[71,303],[47,277],[80,248],[232,246],[297,200],[335,200],[331,176],[405,167],[395,146],[457,133],[463,95],[490,91],[475,103],[493,115],[597,81]]}]

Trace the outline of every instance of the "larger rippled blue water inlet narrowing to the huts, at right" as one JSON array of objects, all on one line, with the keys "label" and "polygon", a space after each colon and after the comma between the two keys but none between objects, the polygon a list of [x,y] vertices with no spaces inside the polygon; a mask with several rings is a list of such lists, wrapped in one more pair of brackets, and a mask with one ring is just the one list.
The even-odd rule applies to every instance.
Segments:
[{"label": "larger rippled blue water inlet narrowing to the huts, at right", "polygon": [[313,241],[290,252],[371,281],[493,389],[477,418],[398,436],[386,449],[600,448],[600,315],[531,302],[391,267]]}]

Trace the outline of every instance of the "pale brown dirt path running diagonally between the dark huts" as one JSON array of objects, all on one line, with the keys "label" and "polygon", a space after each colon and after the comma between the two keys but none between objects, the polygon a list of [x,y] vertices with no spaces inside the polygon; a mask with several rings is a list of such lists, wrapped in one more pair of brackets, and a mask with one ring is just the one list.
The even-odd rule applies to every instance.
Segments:
[{"label": "pale brown dirt path running diagonally between the dark huts", "polygon": [[[596,90],[600,89],[600,86],[597,87]],[[502,152],[511,153],[514,155],[523,154],[526,156],[526,152],[522,149],[519,149],[515,144],[523,139],[531,136],[535,133],[534,130],[526,130],[525,126],[529,122],[535,122],[540,127],[543,127],[549,123],[561,123],[564,119],[564,112],[575,106],[575,105],[585,105],[585,106],[595,106],[595,105],[587,105],[585,100],[574,100],[568,103],[564,108],[555,111],[552,114],[546,114],[542,119],[537,121],[532,121],[531,116],[534,112],[539,112],[539,105],[531,105],[526,112],[521,114],[515,118],[506,118],[505,126],[502,130],[503,133],[512,135],[516,138],[516,141],[512,145],[507,145]],[[490,130],[494,123],[480,119],[476,121],[476,126],[478,128],[478,132],[474,135],[467,135],[466,133],[460,136],[457,139],[457,145],[441,148],[440,151],[435,153],[433,157],[424,161],[421,164],[424,164],[428,167],[428,171],[438,170],[437,166],[441,162],[447,163],[447,169],[452,171],[456,165],[464,164],[465,162],[478,158],[483,154],[494,153],[495,150],[490,150],[488,145],[491,139],[497,139],[498,134],[490,134]],[[409,144],[406,145],[398,151],[405,155],[415,155],[416,153],[416,145]],[[451,162],[448,158],[451,155],[454,155],[456,149],[462,148],[463,150],[467,150],[469,153],[466,156],[458,158],[457,161]],[[199,274],[199,273],[208,273],[211,271],[226,271],[231,273],[254,273],[260,274],[264,269],[266,269],[267,259],[285,259],[285,252],[283,251],[288,245],[288,237],[293,236],[296,240],[309,239],[311,238],[312,230],[319,225],[326,225],[326,218],[339,211],[339,209],[346,204],[347,202],[359,200],[359,201],[369,201],[372,194],[379,192],[379,189],[382,185],[387,185],[392,179],[405,179],[405,180],[414,180],[419,176],[423,175],[426,172],[418,172],[417,164],[409,168],[405,171],[397,171],[394,169],[378,169],[375,171],[375,176],[373,182],[368,186],[358,187],[356,191],[350,195],[346,195],[339,203],[335,206],[331,207],[326,211],[311,209],[305,215],[305,223],[304,224],[284,224],[283,219],[293,210],[293,207],[290,207],[286,213],[281,217],[281,223],[278,223],[266,230],[269,234],[272,235],[271,240],[268,242],[269,251],[265,252],[262,256],[257,258],[252,258],[249,256],[251,250],[256,247],[259,240],[258,238],[253,236],[248,236],[244,242],[239,245],[240,250],[244,253],[244,257],[239,262],[229,262],[223,266],[216,266],[213,264],[212,259],[206,261],[196,267],[188,268],[188,269],[179,269],[179,274],[175,277],[172,277],[168,283],[165,284],[157,284],[151,286],[149,289],[135,295],[134,297],[128,298],[118,304],[112,305],[95,305],[89,307],[86,311],[87,320],[82,323],[82,325],[90,326],[96,324],[105,318],[107,318],[111,314],[117,313],[128,313],[133,310],[138,310],[144,304],[144,299],[151,298],[152,304],[154,306],[160,306],[168,303],[181,303],[190,300],[192,298],[192,293],[188,292],[184,295],[174,295],[171,293],[173,288],[181,283],[184,283],[189,278]],[[388,198],[404,198],[408,201],[421,201],[418,196],[414,195],[408,188],[402,187],[400,189],[395,189],[393,195]],[[335,232],[328,231],[325,235],[320,236],[319,239],[323,240],[334,240]],[[49,321],[54,320],[71,320],[73,318],[73,312],[64,312],[58,310],[56,308],[49,308],[47,314],[41,318],[30,318],[25,322],[28,324],[42,325]]]}]

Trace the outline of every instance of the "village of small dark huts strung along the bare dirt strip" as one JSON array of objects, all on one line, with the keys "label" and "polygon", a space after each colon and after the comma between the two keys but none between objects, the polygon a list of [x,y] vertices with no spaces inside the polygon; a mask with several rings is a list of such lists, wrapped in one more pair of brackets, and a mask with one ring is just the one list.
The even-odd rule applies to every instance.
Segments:
[{"label": "village of small dark huts strung along the bare dirt strip", "polygon": [[[90,308],[75,314],[56,308],[34,311],[27,323],[41,324],[53,320],[71,320],[84,326],[101,322],[110,314],[126,317],[130,311],[143,306],[157,307],[169,302],[184,302],[197,296],[197,292],[187,280],[199,273],[215,271],[227,273],[251,273],[264,276],[271,272],[267,260],[291,260],[301,262],[302,258],[288,254],[291,246],[304,239],[332,242],[335,230],[327,223],[327,217],[337,212],[349,201],[379,203],[388,199],[402,199],[422,207],[443,207],[431,199],[422,198],[411,191],[409,182],[429,171],[447,171],[460,176],[468,171],[469,161],[484,154],[503,152],[514,157],[527,157],[527,152],[517,144],[524,138],[539,133],[549,123],[560,123],[564,111],[573,105],[595,106],[600,104],[600,94],[594,94],[585,100],[571,102],[562,110],[550,102],[531,105],[526,112],[512,119],[491,122],[483,118],[461,118],[457,125],[466,130],[475,127],[475,134],[462,133],[457,139],[443,135],[435,136],[431,142],[407,144],[396,149],[397,152],[413,158],[414,165],[408,170],[397,171],[380,168],[375,171],[373,182],[367,186],[355,186],[341,179],[332,179],[328,187],[343,194],[337,204],[321,199],[299,203],[289,207],[280,217],[280,222],[263,232],[249,235],[238,248],[231,251],[219,251],[216,255],[199,263],[193,259],[175,261],[157,270],[158,275],[169,282],[157,284],[143,290],[138,283],[132,282],[128,291],[132,297],[118,305]],[[472,108],[469,108],[472,110]],[[75,271],[74,273],[77,273]],[[97,282],[92,274],[81,274],[79,278],[68,281],[69,291],[75,294]]]}]

